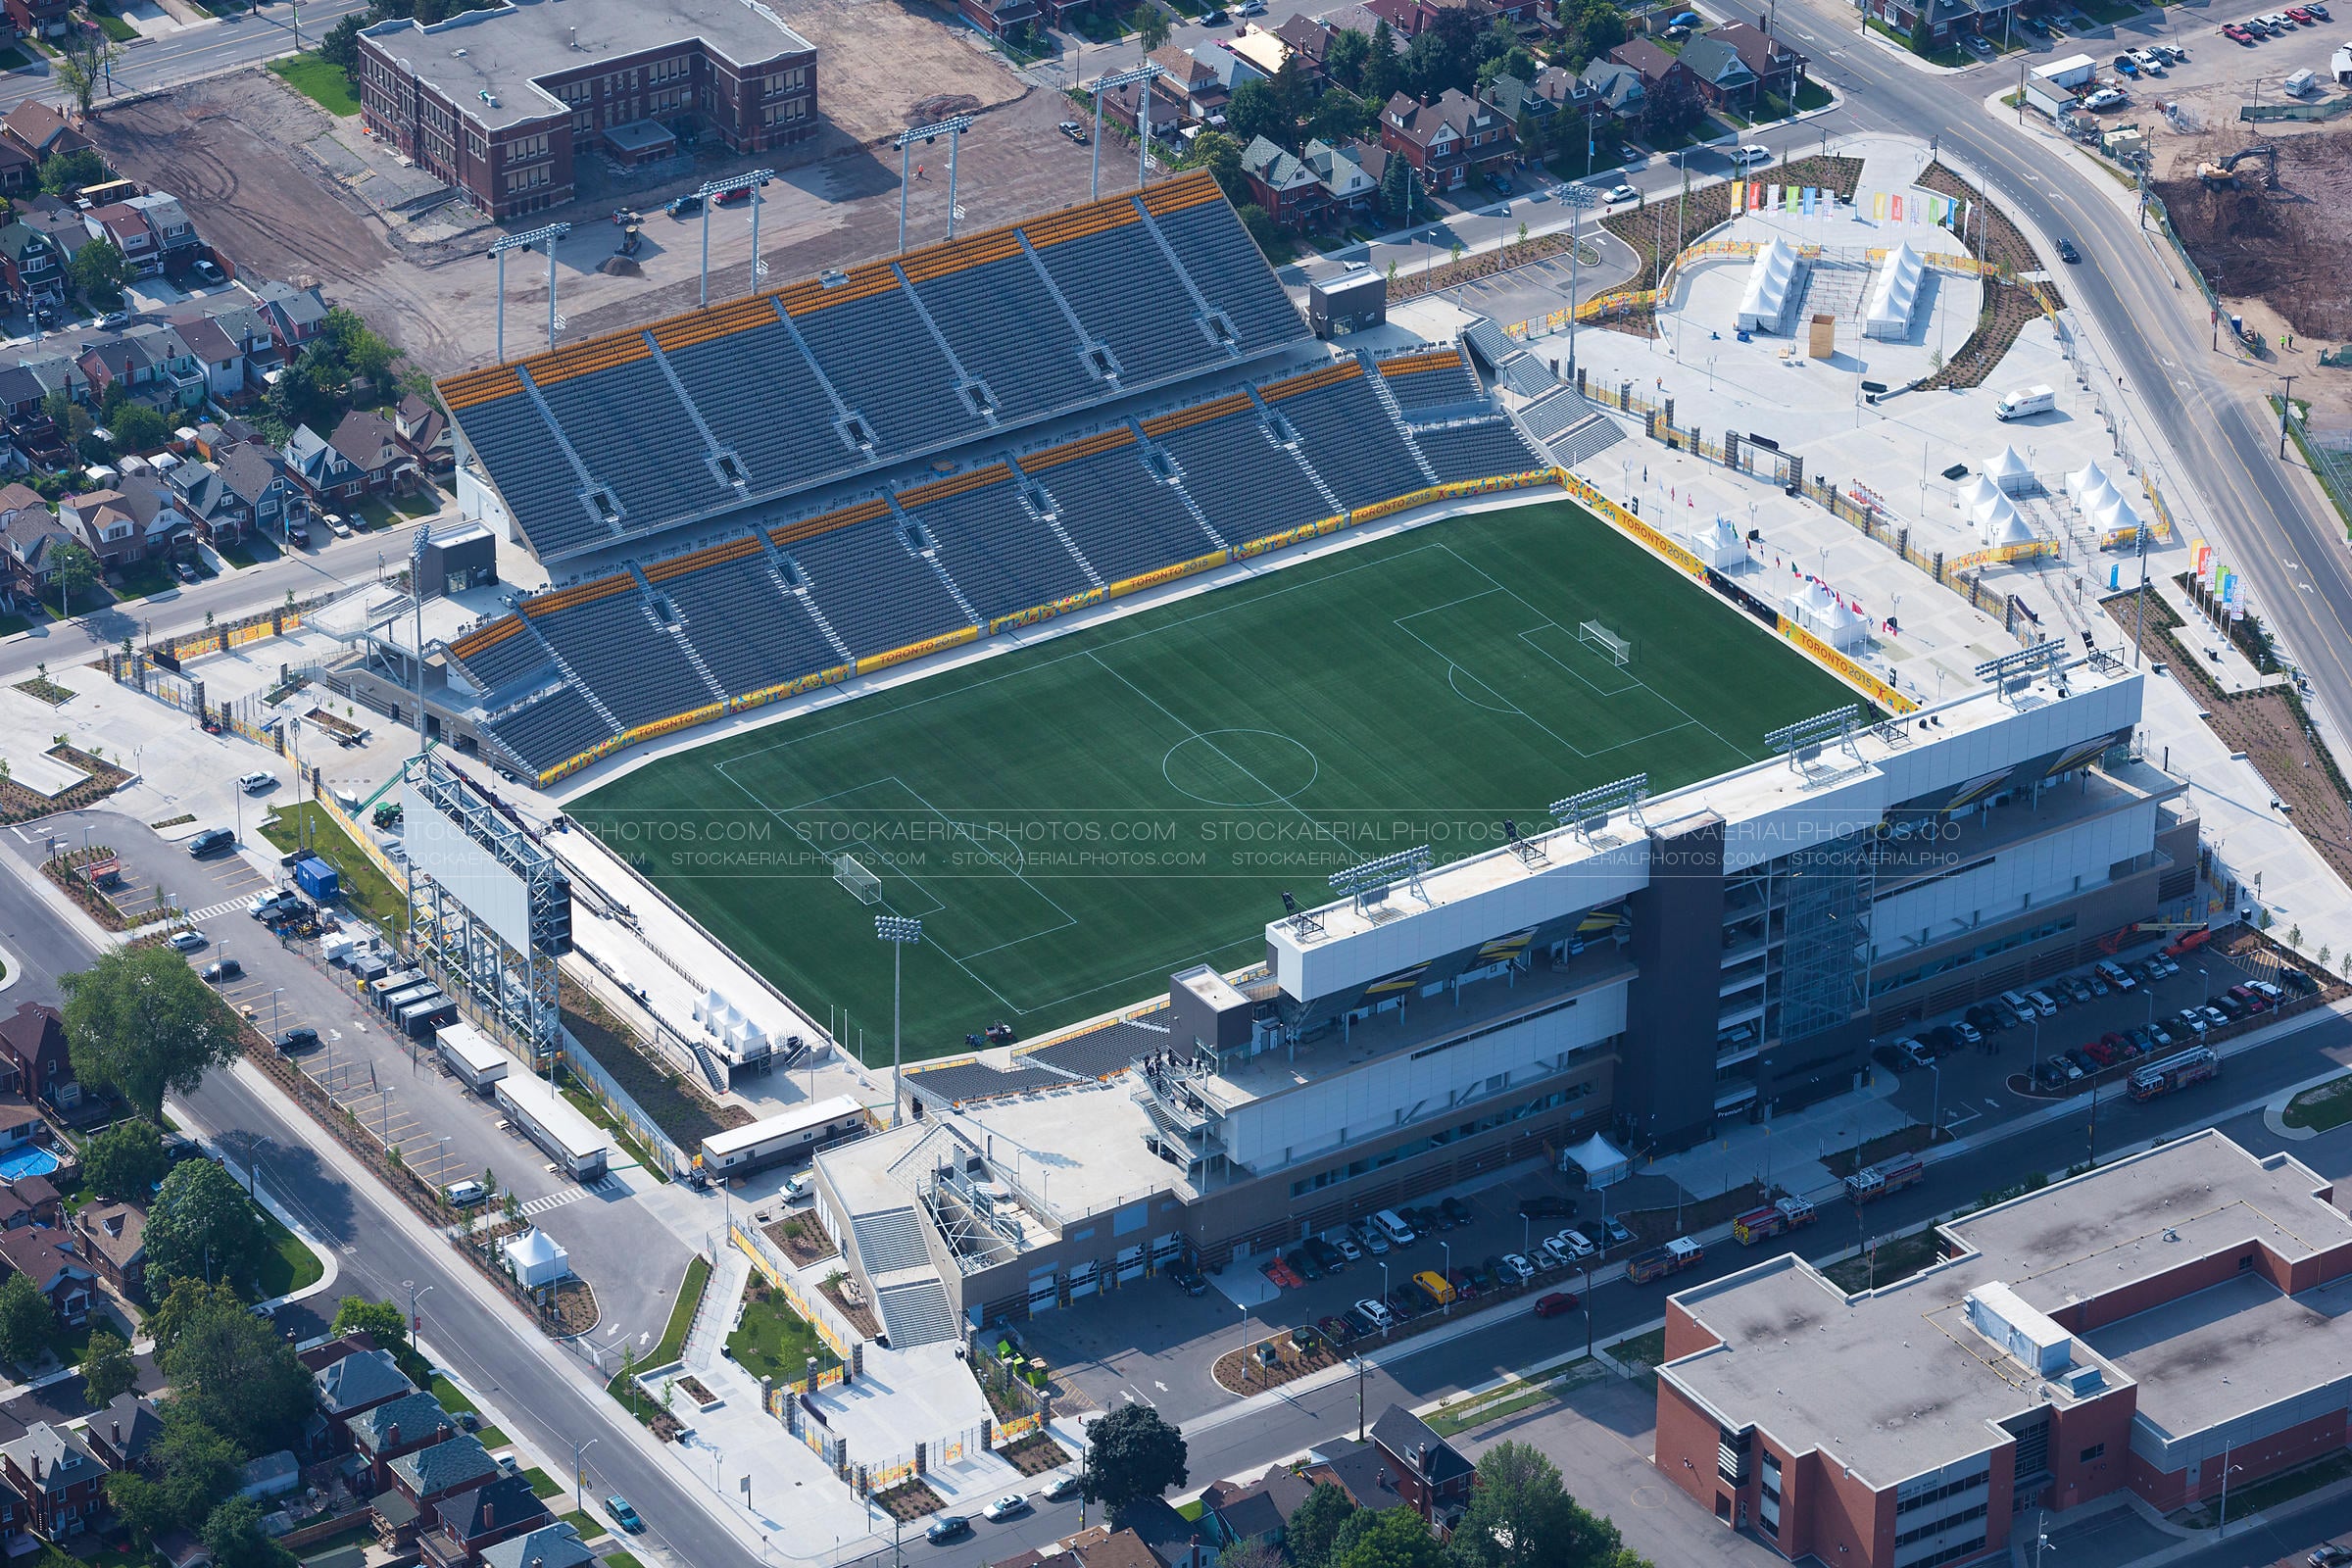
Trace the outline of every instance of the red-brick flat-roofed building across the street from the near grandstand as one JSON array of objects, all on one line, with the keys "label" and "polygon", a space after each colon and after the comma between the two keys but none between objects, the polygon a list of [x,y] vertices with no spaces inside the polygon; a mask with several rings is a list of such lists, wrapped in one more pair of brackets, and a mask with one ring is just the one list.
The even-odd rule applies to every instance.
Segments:
[{"label": "red-brick flat-roofed building across the street from the near grandstand", "polygon": [[1658,1474],[1851,1568],[2009,1561],[2030,1509],[2159,1512],[2338,1453],[2352,1218],[2216,1131],[1940,1227],[1856,1295],[1795,1255],[1668,1302]]}]

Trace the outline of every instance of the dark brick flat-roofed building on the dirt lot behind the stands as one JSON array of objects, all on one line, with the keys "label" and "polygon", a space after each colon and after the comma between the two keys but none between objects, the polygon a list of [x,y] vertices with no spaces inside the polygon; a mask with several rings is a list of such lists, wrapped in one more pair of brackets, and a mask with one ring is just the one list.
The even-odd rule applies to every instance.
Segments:
[{"label": "dark brick flat-roofed building on the dirt lot behind the stands", "polygon": [[360,113],[496,221],[574,197],[574,160],[816,136],[816,47],[757,0],[522,0],[360,33]]}]

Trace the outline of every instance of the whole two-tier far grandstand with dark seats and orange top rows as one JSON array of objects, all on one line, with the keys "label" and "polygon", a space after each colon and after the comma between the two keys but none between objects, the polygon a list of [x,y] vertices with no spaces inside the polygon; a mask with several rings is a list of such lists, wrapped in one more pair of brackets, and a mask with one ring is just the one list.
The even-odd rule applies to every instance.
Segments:
[{"label": "whole two-tier far grandstand with dark seats and orange top rows", "polygon": [[456,637],[435,703],[539,783],[1548,470],[1458,346],[1310,339],[1207,174],[440,390],[466,510],[579,571]]}]

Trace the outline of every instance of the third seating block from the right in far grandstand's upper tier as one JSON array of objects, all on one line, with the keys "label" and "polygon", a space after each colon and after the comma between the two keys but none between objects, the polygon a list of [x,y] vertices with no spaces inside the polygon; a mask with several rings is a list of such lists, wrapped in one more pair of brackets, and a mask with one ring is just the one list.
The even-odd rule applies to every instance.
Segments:
[{"label": "third seating block from the right in far grandstand's upper tier", "polygon": [[1108,390],[1011,230],[917,252],[901,270],[955,357],[988,383],[997,418],[1080,407]]}]

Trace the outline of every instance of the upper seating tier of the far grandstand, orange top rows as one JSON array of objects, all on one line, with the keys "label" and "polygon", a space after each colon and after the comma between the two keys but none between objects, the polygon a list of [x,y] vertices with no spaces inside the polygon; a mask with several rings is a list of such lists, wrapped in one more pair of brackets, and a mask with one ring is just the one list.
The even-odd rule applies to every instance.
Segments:
[{"label": "upper seating tier of the far grandstand, orange top rows", "polygon": [[[1117,381],[1089,364],[1089,339],[1108,346]],[[529,548],[555,562],[1303,339],[1202,172],[440,390]]]}]

